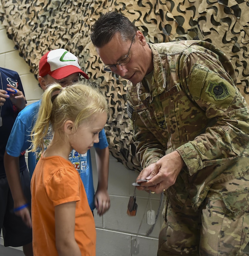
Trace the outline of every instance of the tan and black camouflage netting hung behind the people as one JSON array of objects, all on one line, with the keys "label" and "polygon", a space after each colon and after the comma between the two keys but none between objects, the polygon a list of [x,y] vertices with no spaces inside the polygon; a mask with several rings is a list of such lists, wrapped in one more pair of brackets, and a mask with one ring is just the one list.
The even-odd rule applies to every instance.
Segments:
[{"label": "tan and black camouflage netting hung behind the people", "polygon": [[105,92],[111,109],[106,136],[111,154],[140,171],[126,114],[126,80],[103,72],[90,39],[102,13],[118,11],[141,30],[147,42],[201,39],[225,52],[237,72],[237,86],[249,102],[248,0],[1,0],[0,18],[7,35],[37,76],[45,52],[65,48],[78,56],[91,81]]}]

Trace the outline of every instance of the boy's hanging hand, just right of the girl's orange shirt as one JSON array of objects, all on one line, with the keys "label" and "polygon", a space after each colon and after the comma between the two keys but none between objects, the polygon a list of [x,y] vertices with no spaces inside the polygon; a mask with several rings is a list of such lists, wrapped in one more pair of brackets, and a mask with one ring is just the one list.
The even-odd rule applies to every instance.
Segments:
[{"label": "boy's hanging hand, just right of the girl's orange shirt", "polygon": [[94,204],[99,216],[103,215],[110,208],[110,197],[106,189],[97,189],[94,196]]}]

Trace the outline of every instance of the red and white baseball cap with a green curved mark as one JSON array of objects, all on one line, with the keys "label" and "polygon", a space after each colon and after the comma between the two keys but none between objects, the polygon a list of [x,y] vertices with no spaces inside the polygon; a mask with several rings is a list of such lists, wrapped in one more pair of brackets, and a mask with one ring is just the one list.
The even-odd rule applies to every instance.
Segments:
[{"label": "red and white baseball cap with a green curved mark", "polygon": [[80,73],[89,79],[87,74],[81,70],[78,58],[65,49],[55,49],[43,55],[39,62],[39,76],[50,75],[60,80],[74,73]]}]

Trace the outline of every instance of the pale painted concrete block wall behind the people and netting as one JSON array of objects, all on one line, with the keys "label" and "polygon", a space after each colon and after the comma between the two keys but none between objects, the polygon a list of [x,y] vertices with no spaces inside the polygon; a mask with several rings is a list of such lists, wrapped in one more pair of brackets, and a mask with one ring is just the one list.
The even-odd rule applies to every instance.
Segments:
[{"label": "pale painted concrete block wall behind the people and netting", "polygon": [[[38,86],[38,81],[35,79],[34,75],[30,73],[28,64],[19,56],[19,52],[14,48],[14,43],[7,37],[6,29],[2,26],[1,22],[0,45],[0,66],[15,70],[19,73],[28,104],[39,100],[43,91]],[[94,185],[96,188],[97,173],[94,149],[92,151],[92,165]],[[94,212],[97,231],[97,256],[132,256],[130,252],[131,241],[137,235],[148,199],[148,193],[137,191],[137,214],[134,217],[130,217],[126,214],[129,197],[134,190],[134,186],[131,184],[136,180],[137,175],[138,174],[134,171],[126,169],[124,165],[118,163],[117,160],[110,155],[108,192],[110,194],[111,207],[109,211],[101,217],[97,215],[96,211]],[[152,194],[151,198],[152,209],[156,212],[159,204],[159,195]],[[150,209],[150,204],[148,205],[148,209]],[[138,255],[157,255],[157,237],[162,221],[163,218],[160,214],[152,234],[146,237],[145,233],[150,226],[146,222],[145,214],[138,234]],[[2,237],[1,244],[3,244]]]}]

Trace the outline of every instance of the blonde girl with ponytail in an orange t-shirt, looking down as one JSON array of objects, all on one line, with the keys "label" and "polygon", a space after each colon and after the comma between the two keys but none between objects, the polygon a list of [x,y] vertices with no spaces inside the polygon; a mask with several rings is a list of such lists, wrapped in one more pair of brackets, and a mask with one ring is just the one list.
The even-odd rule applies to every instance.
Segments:
[{"label": "blonde girl with ponytail in an orange t-shirt, looking down", "polygon": [[45,90],[31,133],[31,150],[44,150],[49,125],[54,136],[31,179],[34,255],[96,254],[94,218],[68,156],[73,149],[85,154],[98,143],[107,113],[106,99],[93,85],[52,84]]}]

